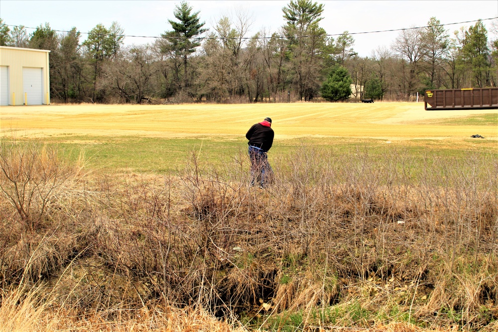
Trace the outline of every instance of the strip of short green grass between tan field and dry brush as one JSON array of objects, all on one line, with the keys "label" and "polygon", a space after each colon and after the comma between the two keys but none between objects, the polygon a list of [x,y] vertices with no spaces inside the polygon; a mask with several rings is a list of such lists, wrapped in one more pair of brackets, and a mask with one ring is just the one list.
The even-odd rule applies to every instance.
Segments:
[{"label": "strip of short green grass between tan field and dry brush", "polygon": [[[3,139],[6,141],[6,139]],[[21,139],[17,139],[22,141]],[[212,137],[151,138],[137,136],[78,136],[46,137],[40,143],[58,145],[69,160],[76,160],[84,152],[87,166],[106,172],[137,172],[174,174],[197,158],[201,167],[237,166],[247,156],[247,140]],[[479,143],[479,144],[476,144]],[[393,152],[401,152],[416,164],[427,158],[464,160],[469,155],[498,156],[496,140],[475,139],[458,147],[444,140],[406,140],[390,144],[379,139],[299,138],[275,140],[268,154],[270,164],[278,158],[296,153],[319,152],[327,158],[344,155],[369,156],[383,160]],[[321,160],[324,165],[328,160]]]}]

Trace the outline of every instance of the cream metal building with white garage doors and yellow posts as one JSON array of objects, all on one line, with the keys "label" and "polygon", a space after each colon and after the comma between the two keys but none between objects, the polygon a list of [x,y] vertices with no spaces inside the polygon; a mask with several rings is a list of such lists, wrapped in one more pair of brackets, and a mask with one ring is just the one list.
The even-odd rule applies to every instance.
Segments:
[{"label": "cream metal building with white garage doors and yellow posts", "polygon": [[0,106],[50,104],[48,53],[0,46]]}]

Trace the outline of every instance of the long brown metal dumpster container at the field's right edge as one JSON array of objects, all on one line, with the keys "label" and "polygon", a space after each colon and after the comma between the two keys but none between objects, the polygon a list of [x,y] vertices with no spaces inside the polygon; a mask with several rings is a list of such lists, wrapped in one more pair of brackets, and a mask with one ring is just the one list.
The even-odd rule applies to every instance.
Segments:
[{"label": "long brown metal dumpster container at the field's right edge", "polygon": [[426,90],[425,110],[498,109],[498,88]]}]

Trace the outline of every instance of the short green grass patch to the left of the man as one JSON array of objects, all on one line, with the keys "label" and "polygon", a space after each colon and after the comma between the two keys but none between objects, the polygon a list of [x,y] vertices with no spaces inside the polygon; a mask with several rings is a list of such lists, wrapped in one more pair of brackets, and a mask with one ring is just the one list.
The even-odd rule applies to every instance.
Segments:
[{"label": "short green grass patch to the left of the man", "polygon": [[235,156],[244,147],[241,142],[232,140],[134,136],[66,136],[64,140],[51,138],[44,139],[44,142],[58,144],[71,160],[75,160],[80,151],[84,151],[88,166],[93,169],[157,174],[181,169],[193,155],[199,158],[201,164],[220,165],[223,160]]}]

